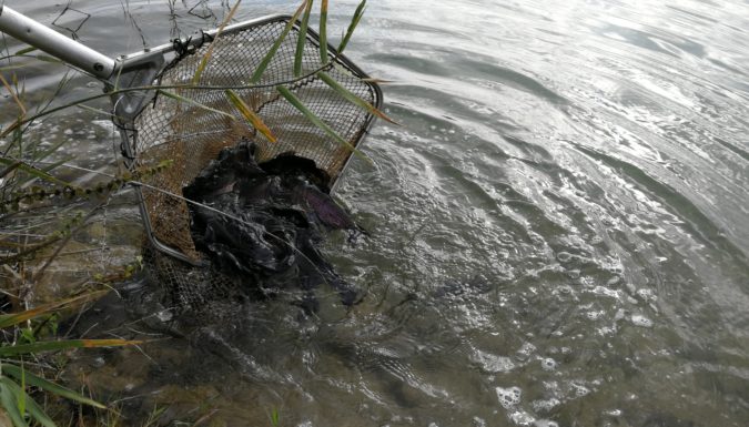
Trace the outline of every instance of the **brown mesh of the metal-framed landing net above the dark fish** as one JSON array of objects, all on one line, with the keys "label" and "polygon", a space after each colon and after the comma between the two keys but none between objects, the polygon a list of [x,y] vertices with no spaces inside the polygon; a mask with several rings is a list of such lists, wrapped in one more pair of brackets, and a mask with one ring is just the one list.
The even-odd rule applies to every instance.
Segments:
[{"label": "brown mesh of the metal-framed landing net above the dark fish", "polygon": [[[149,167],[164,160],[173,161],[171,167],[149,177],[144,182],[146,186],[141,187],[145,221],[150,224],[146,228],[150,228],[155,241],[175,248],[191,261],[200,262],[202,257],[192,242],[186,202],[151,187],[181,196],[182,187],[190,184],[211,160],[216,159],[222,149],[235,145],[243,139],[257,145],[257,162],[293,152],[314,160],[317,167],[328,173],[331,184],[351,155],[350,150],[332,141],[281,96],[275,84],[284,82],[313,113],[354,146],[372,121],[367,112],[351,104],[313,73],[323,68],[314,33],[307,34],[301,73],[311,75],[295,79],[293,70],[298,32],[294,28],[256,84],[263,88],[234,89],[279,141],[271,143],[245,124],[243,116],[226,98],[225,87],[251,84],[254,70],[279,39],[286,22],[286,19],[277,19],[224,32],[213,42],[211,59],[199,82],[202,89],[165,89],[210,109],[232,114],[237,118],[236,121],[204,106],[164,95],[156,96],[135,119],[138,132],[133,146],[138,166]],[[169,65],[160,77],[162,88],[191,83],[208,49],[209,43],[205,43],[194,54]],[[378,104],[375,85],[362,80],[363,75],[355,67],[333,54],[328,61],[324,68],[328,75],[361,99]],[[171,261],[161,263],[169,263],[163,265],[164,274],[185,274],[185,271],[175,271],[176,264]]]}]

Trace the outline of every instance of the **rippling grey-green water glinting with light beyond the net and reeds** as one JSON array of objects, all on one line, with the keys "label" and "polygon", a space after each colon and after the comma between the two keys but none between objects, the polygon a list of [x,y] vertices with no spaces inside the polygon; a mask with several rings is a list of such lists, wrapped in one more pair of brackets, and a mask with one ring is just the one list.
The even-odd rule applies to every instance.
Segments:
[{"label": "rippling grey-green water glinting with light beyond the net and reeds", "polygon": [[[75,2],[79,37],[115,54],[215,24],[184,4]],[[331,4],[335,31],[355,6]],[[748,425],[747,29],[738,0],[372,2],[348,54],[394,81],[401,126],[337,193],[372,237],[328,247],[365,302],[255,304],[80,368],[164,420]]]}]

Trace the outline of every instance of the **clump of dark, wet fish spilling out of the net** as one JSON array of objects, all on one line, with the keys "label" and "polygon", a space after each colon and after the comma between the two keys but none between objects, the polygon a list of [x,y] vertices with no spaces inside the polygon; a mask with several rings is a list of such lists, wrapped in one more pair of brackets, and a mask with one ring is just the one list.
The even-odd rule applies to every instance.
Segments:
[{"label": "clump of dark, wet fish spilling out of the net", "polygon": [[332,286],[345,305],[361,293],[345,282],[317,245],[325,232],[363,231],[330,196],[327,174],[311,160],[284,154],[264,164],[254,146],[224,149],[183,189],[195,247],[249,295],[305,291],[302,306],[317,309],[313,289]]}]

